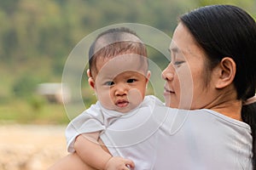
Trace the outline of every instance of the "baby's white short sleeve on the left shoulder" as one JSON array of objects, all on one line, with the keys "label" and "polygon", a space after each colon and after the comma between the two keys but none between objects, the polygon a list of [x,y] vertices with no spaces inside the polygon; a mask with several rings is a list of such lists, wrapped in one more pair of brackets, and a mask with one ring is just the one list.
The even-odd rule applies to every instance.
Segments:
[{"label": "baby's white short sleeve on the left shoulder", "polygon": [[83,133],[94,133],[104,130],[103,117],[100,113],[93,112],[91,109],[84,111],[75,117],[66,128],[67,151],[74,152],[75,139]]}]

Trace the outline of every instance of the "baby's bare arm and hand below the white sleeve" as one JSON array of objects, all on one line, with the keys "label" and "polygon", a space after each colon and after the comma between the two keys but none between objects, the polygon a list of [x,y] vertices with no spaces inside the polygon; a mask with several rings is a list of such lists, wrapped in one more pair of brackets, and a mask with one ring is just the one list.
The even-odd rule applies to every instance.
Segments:
[{"label": "baby's bare arm and hand below the white sleeve", "polygon": [[87,165],[102,170],[129,169],[126,167],[127,165],[134,167],[133,161],[122,157],[113,157],[103,150],[97,142],[99,134],[99,132],[84,133],[75,140],[74,149]]}]

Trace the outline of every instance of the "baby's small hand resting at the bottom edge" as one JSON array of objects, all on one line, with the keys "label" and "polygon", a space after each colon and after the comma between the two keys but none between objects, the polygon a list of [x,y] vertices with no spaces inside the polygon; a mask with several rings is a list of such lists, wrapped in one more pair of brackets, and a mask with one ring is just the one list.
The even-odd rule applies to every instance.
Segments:
[{"label": "baby's small hand resting at the bottom edge", "polygon": [[105,170],[130,170],[134,168],[134,162],[122,157],[113,156],[106,163]]}]

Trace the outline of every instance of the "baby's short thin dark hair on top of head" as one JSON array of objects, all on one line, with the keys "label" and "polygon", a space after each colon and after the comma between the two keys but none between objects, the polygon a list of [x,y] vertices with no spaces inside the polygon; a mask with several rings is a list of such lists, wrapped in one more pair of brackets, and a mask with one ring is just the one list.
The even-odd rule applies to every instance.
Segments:
[{"label": "baby's short thin dark hair on top of head", "polygon": [[[89,50],[89,69],[92,76],[98,73],[98,59],[112,59],[122,54],[137,54],[148,70],[148,54],[145,44],[134,31],[126,27],[111,28],[96,37]],[[93,76],[92,76],[93,77]]]}]

